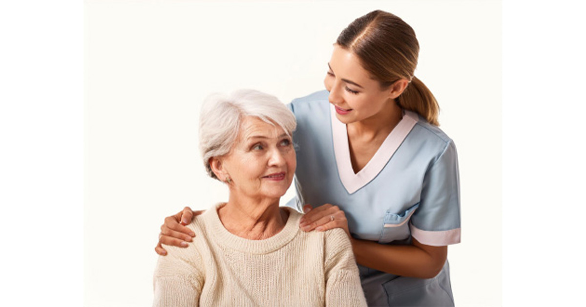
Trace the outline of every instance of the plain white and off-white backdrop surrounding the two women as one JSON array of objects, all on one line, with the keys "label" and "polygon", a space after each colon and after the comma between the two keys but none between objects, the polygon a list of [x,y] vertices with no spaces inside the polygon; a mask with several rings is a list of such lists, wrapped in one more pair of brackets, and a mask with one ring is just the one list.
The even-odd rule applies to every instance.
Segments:
[{"label": "plain white and off-white backdrop surrounding the two women", "polygon": [[[2,2],[1,305],[150,305],[156,259],[152,247],[163,216],[185,203],[195,205],[211,194],[210,189],[220,188],[207,179],[210,186],[196,185],[195,177],[203,173],[193,130],[200,98],[212,89],[247,86],[287,102],[321,89],[331,42],[353,18],[373,8],[394,12],[414,27],[422,47],[416,74],[438,97],[441,127],[458,144],[463,233],[462,243],[450,247],[448,256],[456,304],[579,304],[586,272],[579,250],[586,170],[581,125],[586,48],[581,29],[586,25],[575,3],[504,2],[500,113],[500,81],[484,77],[500,67],[500,21],[491,21],[500,19],[499,1],[315,2],[305,15],[284,3],[241,7],[239,13],[245,16],[285,8],[281,11],[286,14],[260,29],[284,33],[296,27],[288,33],[297,44],[275,43],[280,54],[298,48],[296,60],[281,56],[278,66],[247,64],[268,63],[271,56],[263,54],[262,61],[253,62],[247,57],[254,54],[241,45],[230,46],[237,53],[217,51],[213,46],[224,44],[222,37],[213,44],[209,39],[196,43],[214,37],[206,33],[230,33],[247,23],[230,26],[218,22],[225,19],[220,17],[197,31],[182,29],[199,23],[195,16],[216,16],[202,11],[205,6],[237,18],[229,13],[234,4],[226,2],[87,2],[85,12],[79,1]],[[182,9],[173,11],[172,6]],[[207,13],[191,12],[189,6]],[[194,18],[185,16],[189,13]],[[291,21],[292,15],[296,17]],[[251,17],[248,23],[251,20],[254,25],[257,19]],[[299,37],[304,29],[304,37]],[[186,37],[185,31],[195,35]],[[451,49],[453,44],[459,49]],[[198,58],[202,53],[197,52],[185,56],[178,45],[216,51],[208,58]],[[268,47],[275,53],[276,47]],[[246,57],[232,58],[237,54]],[[202,68],[216,57],[236,67]],[[184,68],[188,72],[183,73]],[[267,73],[271,69],[272,75]],[[202,77],[203,70],[209,78]],[[263,76],[251,77],[256,74]],[[475,78],[476,86],[471,85]],[[502,203],[501,152],[495,150],[488,160],[483,154],[491,150],[490,144],[499,146],[501,127]],[[474,132],[488,143],[471,141],[467,135]],[[486,174],[476,174],[482,172]],[[487,205],[485,199],[492,203]]]}]

